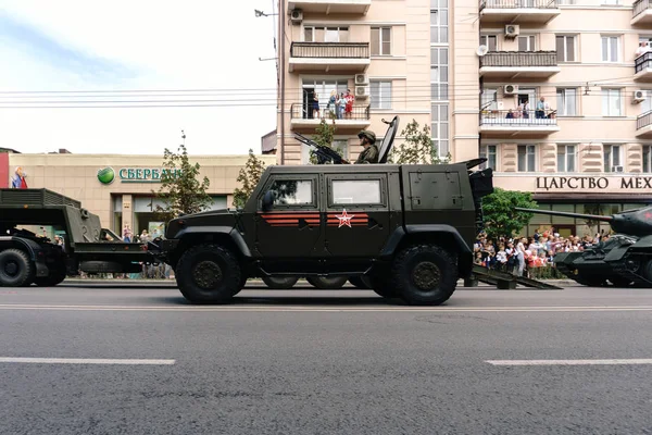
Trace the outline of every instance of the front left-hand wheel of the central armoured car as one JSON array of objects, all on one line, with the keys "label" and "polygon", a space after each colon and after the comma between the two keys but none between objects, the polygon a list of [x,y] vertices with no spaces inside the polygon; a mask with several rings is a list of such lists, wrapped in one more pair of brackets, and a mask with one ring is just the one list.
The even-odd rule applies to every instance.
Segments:
[{"label": "front left-hand wheel of the central armoured car", "polygon": [[184,252],[176,281],[181,295],[192,303],[225,303],[240,291],[242,270],[227,248],[205,244]]}]

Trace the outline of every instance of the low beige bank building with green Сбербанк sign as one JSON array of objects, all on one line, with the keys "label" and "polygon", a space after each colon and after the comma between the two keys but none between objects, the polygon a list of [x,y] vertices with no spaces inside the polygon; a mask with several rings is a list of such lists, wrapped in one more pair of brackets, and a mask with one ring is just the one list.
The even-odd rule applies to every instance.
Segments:
[{"label": "low beige bank building with green \u0421\u0431\u0435\u0440\u0431\u0430\u043d\u043a sign", "polygon": [[[276,164],[276,157],[259,157],[265,165]],[[197,156],[201,177],[209,177],[211,209],[233,207],[237,177],[248,156]],[[47,188],[82,201],[82,206],[100,216],[103,227],[118,235],[128,226],[133,234],[147,231],[162,234],[165,224],[156,213],[163,202],[155,192],[161,188],[164,171],[158,156],[116,154],[23,154],[9,153],[3,165],[10,177],[21,167],[29,188]],[[173,174],[174,175],[174,174]],[[0,187],[9,187],[2,179]]]}]

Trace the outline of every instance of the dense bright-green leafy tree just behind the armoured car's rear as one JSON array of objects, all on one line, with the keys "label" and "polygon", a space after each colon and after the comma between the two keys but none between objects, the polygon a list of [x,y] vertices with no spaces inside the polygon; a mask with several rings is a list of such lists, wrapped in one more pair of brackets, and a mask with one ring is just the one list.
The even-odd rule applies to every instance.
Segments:
[{"label": "dense bright-green leafy tree just behind the armoured car's rear", "polygon": [[536,209],[537,202],[532,194],[493,188],[493,194],[482,198],[482,214],[485,232],[488,238],[498,240],[499,237],[513,237],[529,220],[532,213],[514,210],[515,207]]}]

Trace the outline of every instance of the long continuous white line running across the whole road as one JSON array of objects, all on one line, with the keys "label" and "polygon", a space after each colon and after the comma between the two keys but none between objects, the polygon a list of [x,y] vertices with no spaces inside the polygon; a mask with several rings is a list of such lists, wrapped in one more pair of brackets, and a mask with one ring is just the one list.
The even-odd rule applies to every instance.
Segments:
[{"label": "long continuous white line running across the whole road", "polygon": [[617,312],[652,311],[652,306],[584,307],[315,307],[315,306],[110,306],[2,303],[0,310],[153,312]]}]

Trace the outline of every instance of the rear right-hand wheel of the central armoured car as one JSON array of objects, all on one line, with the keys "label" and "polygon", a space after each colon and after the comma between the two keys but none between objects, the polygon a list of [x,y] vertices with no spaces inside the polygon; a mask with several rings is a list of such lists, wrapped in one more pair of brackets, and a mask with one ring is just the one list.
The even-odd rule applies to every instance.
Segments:
[{"label": "rear right-hand wheel of the central armoured car", "polygon": [[453,257],[437,245],[416,245],[403,249],[391,269],[393,288],[409,304],[439,306],[457,286],[457,265]]}]

